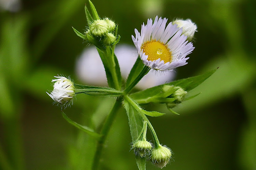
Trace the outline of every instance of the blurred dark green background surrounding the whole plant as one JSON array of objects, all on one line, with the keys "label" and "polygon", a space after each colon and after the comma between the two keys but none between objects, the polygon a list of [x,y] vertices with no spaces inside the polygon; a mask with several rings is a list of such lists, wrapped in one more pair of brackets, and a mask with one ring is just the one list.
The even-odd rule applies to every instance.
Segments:
[{"label": "blurred dark green background surrounding the whole plant", "polygon": [[[0,0],[0,169],[89,169],[95,140],[61,116],[45,93],[54,75],[75,73],[84,48],[75,35],[87,26],[87,0]],[[256,169],[256,5],[248,0],[93,0],[101,17],[119,24],[120,44],[156,15],[190,18],[196,47],[176,80],[219,69],[191,91],[199,96],[150,118],[161,143],[174,153],[165,169]],[[118,45],[117,45],[118,46]],[[88,125],[108,114],[111,98],[77,95],[65,113]],[[124,108],[103,150],[100,169],[137,169]],[[157,169],[150,162],[147,169]]]}]

